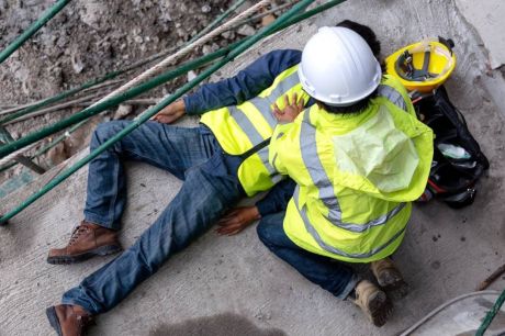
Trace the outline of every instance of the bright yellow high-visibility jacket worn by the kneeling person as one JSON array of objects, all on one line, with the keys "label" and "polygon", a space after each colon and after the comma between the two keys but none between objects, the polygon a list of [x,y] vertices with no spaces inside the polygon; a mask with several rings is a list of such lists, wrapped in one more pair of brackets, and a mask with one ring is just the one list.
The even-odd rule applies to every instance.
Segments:
[{"label": "bright yellow high-visibility jacket worn by the kneeling person", "polygon": [[270,163],[298,184],[284,231],[306,250],[370,262],[403,239],[411,201],[428,179],[433,131],[397,80],[384,77],[378,92],[361,113],[314,105],[276,128]]}]

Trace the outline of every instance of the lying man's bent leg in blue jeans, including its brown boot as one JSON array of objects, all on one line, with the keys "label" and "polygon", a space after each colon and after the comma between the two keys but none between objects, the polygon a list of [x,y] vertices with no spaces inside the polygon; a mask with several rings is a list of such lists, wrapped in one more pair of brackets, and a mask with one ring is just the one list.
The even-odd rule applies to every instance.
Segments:
[{"label": "lying man's bent leg in blue jeans, including its brown boot", "polygon": [[[100,124],[90,149],[94,150],[130,123]],[[74,229],[67,246],[49,250],[47,262],[74,264],[122,249],[117,229],[126,202],[125,160],[144,161],[184,179],[187,169],[205,163],[216,150],[221,147],[215,137],[203,127],[143,124],[90,163],[85,220]]]}]

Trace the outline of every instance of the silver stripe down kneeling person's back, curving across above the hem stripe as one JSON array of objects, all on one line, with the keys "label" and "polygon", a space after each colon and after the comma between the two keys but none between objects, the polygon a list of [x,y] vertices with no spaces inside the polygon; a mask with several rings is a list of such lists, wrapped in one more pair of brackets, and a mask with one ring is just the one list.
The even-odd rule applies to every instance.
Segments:
[{"label": "silver stripe down kneeling person's back, curving across above the hem stripe", "polygon": [[303,163],[311,175],[312,181],[318,190],[319,199],[328,209],[328,216],[326,219],[332,224],[343,229],[360,233],[369,229],[370,227],[385,224],[389,220],[402,211],[403,208],[405,208],[405,203],[400,203],[389,213],[363,224],[344,223],[341,221],[341,210],[335,194],[335,188],[324,170],[323,164],[317,155],[316,128],[311,124],[310,110],[306,111],[303,116],[302,130],[300,133],[300,148],[302,150]]}]

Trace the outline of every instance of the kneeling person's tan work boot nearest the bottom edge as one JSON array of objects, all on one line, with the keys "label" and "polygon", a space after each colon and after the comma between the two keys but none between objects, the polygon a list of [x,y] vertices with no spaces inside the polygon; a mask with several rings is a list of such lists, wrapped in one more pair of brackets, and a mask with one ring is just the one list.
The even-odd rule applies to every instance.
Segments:
[{"label": "kneeling person's tan work boot nearest the bottom edge", "polygon": [[383,326],[393,310],[386,294],[368,280],[361,280],[355,287],[355,303],[378,327]]}]

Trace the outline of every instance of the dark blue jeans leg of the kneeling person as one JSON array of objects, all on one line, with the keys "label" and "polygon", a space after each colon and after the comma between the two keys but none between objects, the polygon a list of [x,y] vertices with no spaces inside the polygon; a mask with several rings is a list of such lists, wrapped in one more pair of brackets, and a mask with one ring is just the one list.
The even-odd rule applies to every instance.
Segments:
[{"label": "dark blue jeans leg of the kneeling person", "polygon": [[291,242],[283,228],[284,214],[279,212],[262,217],[257,227],[259,239],[306,279],[338,299],[346,299],[358,283],[358,276],[347,265],[304,250]]}]

